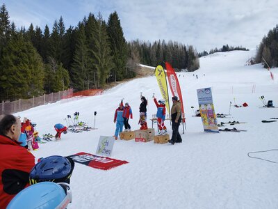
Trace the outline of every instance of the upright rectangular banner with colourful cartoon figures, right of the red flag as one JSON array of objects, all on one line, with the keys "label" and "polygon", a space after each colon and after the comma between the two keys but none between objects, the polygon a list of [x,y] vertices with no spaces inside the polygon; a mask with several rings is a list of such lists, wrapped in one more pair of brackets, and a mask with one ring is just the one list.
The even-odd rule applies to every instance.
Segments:
[{"label": "upright rectangular banner with colourful cartoon figures, right of the red flag", "polygon": [[211,93],[211,88],[197,89],[197,96],[204,131],[219,132],[213,107],[213,95]]}]

